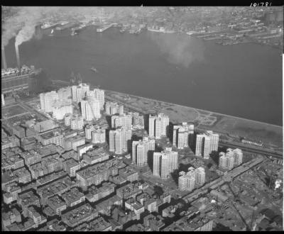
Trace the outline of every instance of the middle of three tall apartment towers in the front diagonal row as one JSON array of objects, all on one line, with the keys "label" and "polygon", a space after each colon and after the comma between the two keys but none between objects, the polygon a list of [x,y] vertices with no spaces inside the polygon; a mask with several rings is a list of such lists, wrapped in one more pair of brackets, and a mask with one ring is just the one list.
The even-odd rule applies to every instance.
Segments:
[{"label": "middle of three tall apartment towers in the front diagonal row", "polygon": [[132,161],[138,167],[148,165],[148,152],[155,150],[155,140],[144,137],[143,140],[132,142]]}]

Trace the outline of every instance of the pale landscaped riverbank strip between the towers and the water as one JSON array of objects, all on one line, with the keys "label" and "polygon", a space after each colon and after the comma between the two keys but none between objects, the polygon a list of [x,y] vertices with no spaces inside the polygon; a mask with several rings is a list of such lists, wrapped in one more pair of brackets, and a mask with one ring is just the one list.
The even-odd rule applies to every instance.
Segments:
[{"label": "pale landscaped riverbank strip between the towers and the water", "polygon": [[[56,87],[59,85],[69,85],[69,82],[65,81],[53,80],[53,82],[57,84]],[[231,140],[237,140],[241,137],[254,141],[261,140],[271,149],[281,152],[283,150],[283,128],[281,126],[124,94],[117,91],[104,90],[106,100],[124,104],[131,111],[138,111],[143,114],[163,112],[170,117],[170,122],[174,124],[191,122],[199,130],[213,130],[214,132],[229,136]]]}]

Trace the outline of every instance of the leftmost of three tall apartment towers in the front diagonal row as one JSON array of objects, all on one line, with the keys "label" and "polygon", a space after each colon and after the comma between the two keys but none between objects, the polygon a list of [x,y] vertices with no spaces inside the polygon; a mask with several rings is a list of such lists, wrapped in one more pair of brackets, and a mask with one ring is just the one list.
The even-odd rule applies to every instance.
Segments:
[{"label": "leftmost of three tall apartment towers in the front diagonal row", "polygon": [[117,128],[109,131],[109,151],[121,155],[128,150],[128,141],[131,140],[131,130]]}]

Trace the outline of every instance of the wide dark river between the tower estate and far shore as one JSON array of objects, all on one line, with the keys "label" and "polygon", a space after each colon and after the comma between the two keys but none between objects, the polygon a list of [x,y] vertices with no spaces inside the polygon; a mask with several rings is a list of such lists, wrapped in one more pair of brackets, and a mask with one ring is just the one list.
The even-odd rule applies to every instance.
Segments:
[{"label": "wide dark river between the tower estate and far shore", "polygon": [[[282,57],[268,46],[222,46],[189,35],[133,35],[119,28],[97,33],[89,26],[75,36],[67,29],[30,40],[20,45],[20,54],[22,64],[41,67],[52,79],[80,72],[84,82],[102,89],[282,126]],[[13,41],[6,60],[16,66]]]}]

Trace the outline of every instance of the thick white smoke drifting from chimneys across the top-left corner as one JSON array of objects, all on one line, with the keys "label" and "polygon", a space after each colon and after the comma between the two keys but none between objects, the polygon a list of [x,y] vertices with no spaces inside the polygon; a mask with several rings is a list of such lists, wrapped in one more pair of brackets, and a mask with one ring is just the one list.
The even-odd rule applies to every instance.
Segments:
[{"label": "thick white smoke drifting from chimneys across the top-left corner", "polygon": [[54,18],[56,21],[92,21],[99,17],[107,21],[111,18],[119,21],[126,16],[137,15],[147,16],[148,11],[143,7],[4,6],[1,47],[8,45],[9,40],[15,36],[16,45],[21,45],[33,38],[35,26]]}]

